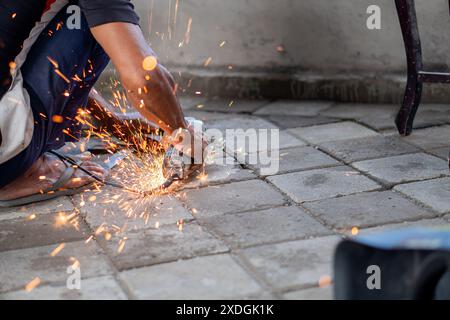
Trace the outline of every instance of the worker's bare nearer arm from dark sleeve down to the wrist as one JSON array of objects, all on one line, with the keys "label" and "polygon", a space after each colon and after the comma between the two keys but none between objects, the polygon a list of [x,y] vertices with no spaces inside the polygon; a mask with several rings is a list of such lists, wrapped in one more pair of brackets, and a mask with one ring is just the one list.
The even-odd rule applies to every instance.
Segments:
[{"label": "worker's bare nearer arm from dark sleeve down to the wrist", "polygon": [[91,28],[119,73],[132,106],[168,134],[186,128],[170,73],[159,63],[147,71],[144,59],[153,56],[139,26],[114,22]]}]

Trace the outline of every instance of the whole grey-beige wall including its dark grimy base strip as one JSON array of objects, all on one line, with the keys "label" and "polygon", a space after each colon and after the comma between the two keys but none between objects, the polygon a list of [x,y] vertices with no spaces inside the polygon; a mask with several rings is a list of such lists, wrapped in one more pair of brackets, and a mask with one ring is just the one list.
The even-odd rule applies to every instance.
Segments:
[{"label": "whole grey-beige wall including its dark grimy base strip", "polygon": [[[404,75],[405,54],[394,0],[134,0],[134,3],[142,29],[160,60],[172,70],[182,70],[184,80],[197,80],[196,89],[208,90],[213,95],[221,94],[223,86],[231,88],[224,95],[247,95],[241,90],[245,81],[227,82],[230,78],[247,77],[251,87],[255,87],[258,79],[267,82],[268,78],[282,78],[284,82],[278,81],[273,86],[284,86],[286,81],[289,85],[289,81],[295,80],[301,84],[294,91],[322,92],[294,98],[398,101],[401,97],[404,80],[396,75]],[[366,27],[366,10],[371,4],[381,7],[381,30]],[[426,65],[445,71],[450,63],[448,1],[417,0],[416,6]],[[189,19],[192,24],[187,35]],[[280,46],[283,52],[279,52]],[[204,67],[209,57],[210,64]],[[202,82],[205,78],[208,80]],[[214,79],[220,80],[215,86]],[[350,87],[342,82],[349,79]],[[311,88],[303,88],[315,80],[320,80],[322,87],[313,83]],[[328,87],[342,85],[345,92],[337,89],[321,96],[324,81]],[[270,87],[271,83],[265,86]],[[445,89],[441,92],[442,87],[436,88],[434,96],[447,95]],[[261,90],[256,89],[259,93]],[[292,96],[293,89],[288,91],[291,93],[272,95]],[[429,96],[431,92],[426,92],[425,99]]]}]

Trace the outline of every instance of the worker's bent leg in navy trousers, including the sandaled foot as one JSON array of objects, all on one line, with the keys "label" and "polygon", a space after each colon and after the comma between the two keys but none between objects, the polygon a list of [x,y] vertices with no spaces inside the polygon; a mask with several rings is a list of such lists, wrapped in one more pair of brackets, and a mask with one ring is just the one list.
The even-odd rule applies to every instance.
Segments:
[{"label": "worker's bent leg in navy trousers, including the sandaled foot", "polygon": [[[33,139],[19,155],[0,165],[0,198],[37,193],[58,178],[64,165],[44,153],[79,135],[73,119],[86,105],[90,89],[109,61],[85,18],[81,29],[69,30],[67,17],[64,8],[40,35],[21,68],[35,120]],[[105,174],[93,163],[86,166]],[[90,180],[81,172],[76,175],[81,179],[67,187]],[[47,179],[39,180],[42,176]]]}]

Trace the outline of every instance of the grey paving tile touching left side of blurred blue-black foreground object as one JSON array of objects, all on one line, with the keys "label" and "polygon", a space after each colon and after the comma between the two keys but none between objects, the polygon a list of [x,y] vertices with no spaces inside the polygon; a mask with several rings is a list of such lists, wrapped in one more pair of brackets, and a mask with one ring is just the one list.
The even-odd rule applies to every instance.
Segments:
[{"label": "grey paving tile touching left side of blurred blue-black foreground object", "polygon": [[277,289],[317,285],[331,276],[336,236],[248,248],[241,254]]}]

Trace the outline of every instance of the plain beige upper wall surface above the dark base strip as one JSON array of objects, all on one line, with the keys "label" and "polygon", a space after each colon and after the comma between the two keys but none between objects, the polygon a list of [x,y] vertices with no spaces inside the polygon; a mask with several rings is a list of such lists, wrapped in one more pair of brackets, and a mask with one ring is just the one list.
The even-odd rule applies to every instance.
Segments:
[{"label": "plain beige upper wall surface above the dark base strip", "polygon": [[[394,0],[134,0],[141,26],[170,66],[235,70],[295,68],[313,73],[404,70]],[[450,16],[447,0],[417,0],[429,64],[447,68]],[[382,30],[366,28],[366,9],[378,4]],[[189,44],[185,38],[192,18]],[[219,44],[226,41],[221,48]],[[282,45],[286,52],[277,52]]]}]

